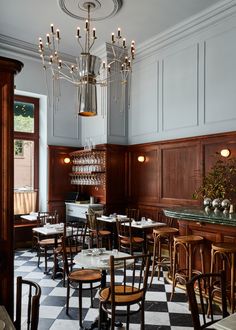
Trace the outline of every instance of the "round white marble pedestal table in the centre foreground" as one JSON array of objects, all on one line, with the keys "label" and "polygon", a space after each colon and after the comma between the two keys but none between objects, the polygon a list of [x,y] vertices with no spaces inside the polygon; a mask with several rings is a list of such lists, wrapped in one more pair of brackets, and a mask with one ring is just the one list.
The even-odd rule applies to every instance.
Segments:
[{"label": "round white marble pedestal table in the centre foreground", "polygon": [[[102,278],[101,278],[101,288],[106,286],[106,278],[107,278],[107,271],[110,269],[110,256],[114,255],[115,259],[120,257],[129,257],[130,254],[120,252],[117,249],[113,250],[106,250],[105,248],[96,248],[96,249],[85,249],[79,252],[74,257],[74,262],[81,268],[88,268],[88,269],[99,269],[101,270]],[[130,263],[127,265],[132,265],[133,261],[131,260]],[[116,263],[114,260],[114,268],[115,269],[122,269],[122,263]],[[102,311],[101,315],[99,315],[102,319],[102,324],[106,328],[109,320],[106,317],[106,313]],[[91,324],[89,329],[94,329],[98,327],[99,320],[98,318]],[[121,322],[116,323],[117,327],[122,327]]]}]

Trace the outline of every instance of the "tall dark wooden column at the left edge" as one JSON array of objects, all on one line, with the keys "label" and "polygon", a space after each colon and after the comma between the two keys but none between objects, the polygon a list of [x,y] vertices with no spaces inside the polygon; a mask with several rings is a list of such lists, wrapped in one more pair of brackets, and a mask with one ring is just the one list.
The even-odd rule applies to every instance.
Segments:
[{"label": "tall dark wooden column at the left edge", "polygon": [[13,316],[14,75],[23,63],[0,57],[0,305]]}]

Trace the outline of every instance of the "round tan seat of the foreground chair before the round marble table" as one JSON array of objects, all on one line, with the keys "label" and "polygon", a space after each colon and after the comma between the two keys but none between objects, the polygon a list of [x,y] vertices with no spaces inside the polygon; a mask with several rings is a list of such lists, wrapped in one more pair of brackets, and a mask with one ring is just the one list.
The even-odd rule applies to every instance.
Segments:
[{"label": "round tan seat of the foreground chair before the round marble table", "polygon": [[[138,291],[138,292],[137,292]],[[129,293],[126,295],[125,293]],[[131,294],[133,292],[133,294]],[[105,288],[99,293],[100,299],[103,301],[111,301],[110,288]],[[122,304],[135,304],[136,301],[140,301],[143,296],[143,291],[139,291],[137,288],[132,286],[116,285],[115,286],[115,303],[117,305]]]}]

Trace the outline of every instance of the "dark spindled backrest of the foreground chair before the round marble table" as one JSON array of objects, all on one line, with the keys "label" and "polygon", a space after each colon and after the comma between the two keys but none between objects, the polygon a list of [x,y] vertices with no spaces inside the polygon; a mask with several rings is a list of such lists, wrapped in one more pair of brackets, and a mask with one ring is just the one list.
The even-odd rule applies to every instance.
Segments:
[{"label": "dark spindled backrest of the foreground chair before the round marble table", "polygon": [[[144,302],[147,290],[148,272],[150,268],[150,255],[136,255],[128,257],[110,256],[110,299],[111,308],[115,306],[115,295],[119,296],[117,301],[129,303],[130,296],[136,296],[138,301]],[[119,265],[119,267],[117,267]],[[116,269],[119,272],[116,276]],[[123,271],[123,276],[120,274]],[[119,286],[119,290],[116,287]],[[118,292],[118,293],[117,293]],[[133,300],[133,299],[132,299]],[[125,305],[125,303],[124,303]]]}]

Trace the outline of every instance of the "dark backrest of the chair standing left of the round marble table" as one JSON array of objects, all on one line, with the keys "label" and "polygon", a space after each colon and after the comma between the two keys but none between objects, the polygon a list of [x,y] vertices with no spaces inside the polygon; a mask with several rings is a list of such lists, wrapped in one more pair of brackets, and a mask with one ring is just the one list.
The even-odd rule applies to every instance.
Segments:
[{"label": "dark backrest of the chair standing left of the round marble table", "polygon": [[78,230],[72,235],[63,235],[63,267],[67,276],[73,269],[74,256],[81,252],[82,249],[86,249],[88,247],[88,236],[89,234],[86,232],[86,230]]}]

